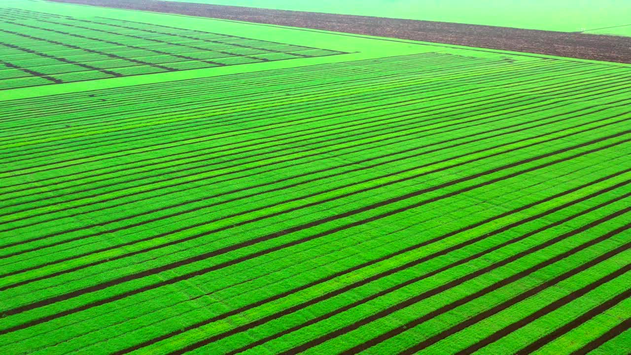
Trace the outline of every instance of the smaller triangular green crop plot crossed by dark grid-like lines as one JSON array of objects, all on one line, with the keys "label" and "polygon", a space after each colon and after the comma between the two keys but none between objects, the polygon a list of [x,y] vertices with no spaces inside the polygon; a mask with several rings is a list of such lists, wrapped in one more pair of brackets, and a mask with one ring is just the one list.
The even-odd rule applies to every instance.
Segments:
[{"label": "smaller triangular green crop plot crossed by dark grid-like lines", "polygon": [[335,54],[342,52],[0,8],[0,90]]}]

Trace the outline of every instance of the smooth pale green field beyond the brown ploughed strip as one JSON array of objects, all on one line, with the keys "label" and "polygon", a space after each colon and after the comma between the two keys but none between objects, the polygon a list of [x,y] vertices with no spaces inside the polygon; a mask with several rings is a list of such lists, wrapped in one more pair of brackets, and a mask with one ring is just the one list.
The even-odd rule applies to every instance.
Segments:
[{"label": "smooth pale green field beyond the brown ploughed strip", "polygon": [[561,32],[587,30],[590,33],[631,36],[631,2],[627,0],[173,1],[470,23],[531,30]]}]

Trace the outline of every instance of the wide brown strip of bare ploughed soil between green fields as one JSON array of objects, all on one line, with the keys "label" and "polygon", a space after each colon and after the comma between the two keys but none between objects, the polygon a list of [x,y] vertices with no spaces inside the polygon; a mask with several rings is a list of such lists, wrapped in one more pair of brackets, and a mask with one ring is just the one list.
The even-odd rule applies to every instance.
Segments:
[{"label": "wide brown strip of bare ploughed soil between green fields", "polygon": [[402,20],[372,16],[310,13],[241,6],[175,3],[162,0],[48,0],[110,8],[249,21],[334,32],[357,33],[442,44],[466,45],[552,56],[631,63],[631,37],[521,28]]}]

